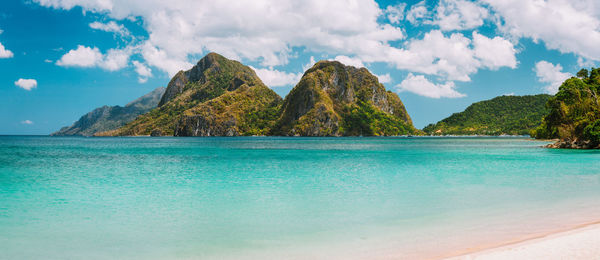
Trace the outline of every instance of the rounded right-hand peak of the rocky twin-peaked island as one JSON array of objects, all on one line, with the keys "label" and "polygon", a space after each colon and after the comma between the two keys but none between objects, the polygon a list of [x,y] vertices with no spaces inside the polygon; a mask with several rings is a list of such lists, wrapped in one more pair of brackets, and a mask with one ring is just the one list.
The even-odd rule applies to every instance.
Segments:
[{"label": "rounded right-hand peak of the rocky twin-peaked island", "polygon": [[417,133],[395,93],[365,68],[320,61],[283,101],[273,135],[390,136]]}]

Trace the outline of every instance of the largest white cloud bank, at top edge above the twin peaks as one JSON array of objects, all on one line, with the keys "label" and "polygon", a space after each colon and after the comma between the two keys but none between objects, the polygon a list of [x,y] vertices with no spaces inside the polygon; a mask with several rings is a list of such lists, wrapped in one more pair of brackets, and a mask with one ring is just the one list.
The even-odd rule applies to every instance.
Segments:
[{"label": "largest white cloud bank, at top edge above the twin peaks", "polygon": [[[207,51],[236,60],[259,61],[262,66],[271,67],[287,64],[293,47],[351,56],[348,54],[359,49],[373,50],[388,41],[404,38],[402,29],[378,23],[383,13],[374,1],[35,2],[63,9],[79,5],[85,11],[107,14],[116,20],[140,17],[149,34],[141,44],[143,58],[170,75],[189,68],[188,57]],[[355,47],[347,49],[348,45]]]}]

